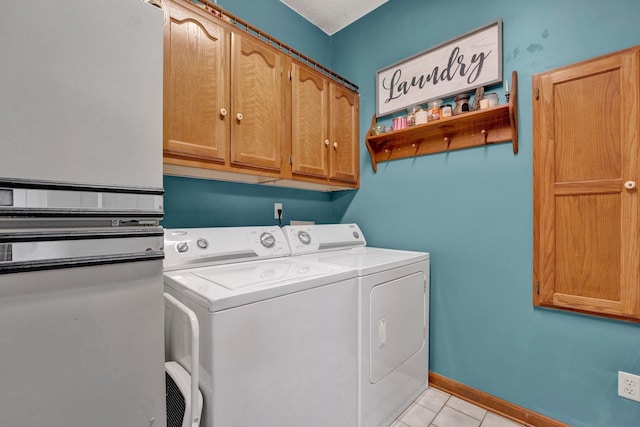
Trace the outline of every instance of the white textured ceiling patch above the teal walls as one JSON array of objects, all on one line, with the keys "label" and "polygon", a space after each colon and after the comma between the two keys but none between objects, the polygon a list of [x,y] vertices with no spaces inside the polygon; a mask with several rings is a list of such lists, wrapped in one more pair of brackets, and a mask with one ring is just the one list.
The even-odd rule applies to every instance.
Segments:
[{"label": "white textured ceiling patch above the teal walls", "polygon": [[332,35],[388,0],[280,0],[307,21]]}]

